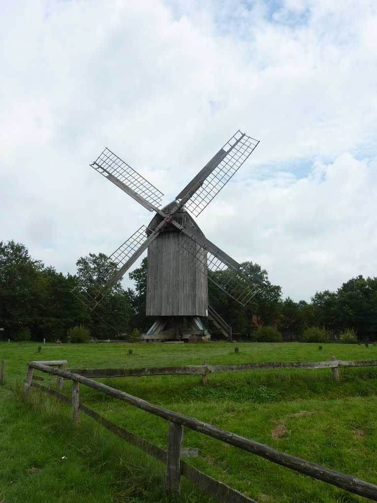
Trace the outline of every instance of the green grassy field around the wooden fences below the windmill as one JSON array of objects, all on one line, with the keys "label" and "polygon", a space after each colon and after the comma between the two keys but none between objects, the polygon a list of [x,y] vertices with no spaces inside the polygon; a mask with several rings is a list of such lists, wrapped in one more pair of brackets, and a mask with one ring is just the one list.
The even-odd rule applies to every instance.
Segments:
[{"label": "green grassy field around the wooden fences below the windmill", "polygon": [[[0,501],[163,502],[163,466],[81,417],[74,428],[71,411],[32,392],[25,400],[22,384],[30,360],[68,361],[68,367],[143,367],[263,361],[377,359],[377,347],[315,344],[190,345],[91,344],[44,346],[0,344],[6,382],[0,388]],[[128,350],[132,348],[133,354]],[[152,403],[198,417],[215,426],[278,450],[377,483],[377,367],[340,369],[334,382],[330,369],[275,370],[199,376],[155,376],[101,379],[102,382]],[[46,378],[55,387],[55,379]],[[64,382],[63,392],[69,394]],[[114,423],[161,447],[166,446],[166,421],[128,404],[80,386],[80,400]],[[254,497],[257,501],[356,502],[351,495],[324,482],[267,462],[212,438],[185,430],[184,447],[199,447],[190,460],[205,473]],[[184,483],[179,501],[209,502]]]}]

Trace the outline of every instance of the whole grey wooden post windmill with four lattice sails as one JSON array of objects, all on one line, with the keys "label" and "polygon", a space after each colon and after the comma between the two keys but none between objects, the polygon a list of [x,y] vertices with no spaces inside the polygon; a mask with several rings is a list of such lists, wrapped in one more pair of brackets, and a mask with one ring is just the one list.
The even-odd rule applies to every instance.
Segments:
[{"label": "whole grey wooden post windmill with four lattice sails", "polygon": [[[209,317],[232,340],[231,327],[208,303],[208,280],[242,305],[260,288],[240,264],[205,237],[193,216],[206,208],[258,143],[237,131],[166,206],[161,206],[163,194],[156,187],[105,148],[90,166],[155,215],[109,257],[112,267],[105,264],[89,286],[82,282],[72,292],[94,309],[148,249],[146,314],[157,320],[143,339],[208,338],[200,317]],[[113,271],[110,277],[106,269]]]}]

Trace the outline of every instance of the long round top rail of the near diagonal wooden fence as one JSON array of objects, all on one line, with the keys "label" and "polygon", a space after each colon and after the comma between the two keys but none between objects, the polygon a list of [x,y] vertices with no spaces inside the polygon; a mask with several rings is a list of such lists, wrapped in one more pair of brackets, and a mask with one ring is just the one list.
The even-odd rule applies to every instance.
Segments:
[{"label": "long round top rail of the near diagonal wooden fence", "polygon": [[368,497],[373,501],[377,501],[377,485],[365,482],[356,477],[352,477],[351,475],[346,475],[344,473],[325,468],[316,463],[306,461],[305,459],[277,451],[276,449],[272,449],[271,447],[260,444],[259,442],[255,442],[245,437],[241,437],[240,435],[236,435],[226,430],[216,428],[194,417],[185,416],[183,414],[173,412],[172,410],[160,407],[159,405],[154,405],[147,402],[146,400],[143,400],[142,398],[138,398],[136,396],[125,393],[124,391],[120,391],[118,389],[112,388],[111,386],[93,381],[78,374],[73,374],[72,372],[69,372],[67,370],[53,369],[39,362],[29,362],[29,367],[41,370],[42,372],[46,372],[48,374],[58,375],[66,379],[71,379],[72,381],[77,381],[81,384],[85,384],[88,387],[98,389],[110,396],[119,398],[120,400],[135,405],[142,410],[146,410],[147,412],[163,417],[167,421],[179,423],[182,426],[186,426],[188,428],[191,428],[192,430],[204,433],[205,435],[221,440],[222,442],[233,445],[262,458],[268,459],[269,461],[272,461],[276,464],[286,466],[300,473],[309,475],[313,478],[317,478],[319,480],[328,482],[329,484],[341,487],[342,489],[345,489],[354,494]]}]

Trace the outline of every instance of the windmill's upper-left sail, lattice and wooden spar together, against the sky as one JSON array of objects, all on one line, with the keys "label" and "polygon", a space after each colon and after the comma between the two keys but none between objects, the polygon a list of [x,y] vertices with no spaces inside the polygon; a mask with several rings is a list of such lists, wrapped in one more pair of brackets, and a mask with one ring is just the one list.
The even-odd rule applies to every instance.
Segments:
[{"label": "windmill's upper-left sail, lattice and wooden spar together, against the sky", "polygon": [[90,166],[149,211],[158,211],[162,192],[108,148]]}]

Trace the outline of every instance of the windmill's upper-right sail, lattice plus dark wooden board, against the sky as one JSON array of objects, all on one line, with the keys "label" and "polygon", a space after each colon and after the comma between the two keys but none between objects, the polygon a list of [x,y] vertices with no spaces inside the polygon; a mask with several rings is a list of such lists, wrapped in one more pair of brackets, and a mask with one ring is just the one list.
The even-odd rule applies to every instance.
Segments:
[{"label": "windmill's upper-right sail, lattice plus dark wooden board, against the sky", "polygon": [[237,131],[176,199],[190,213],[198,216],[239,170],[258,143],[258,140]]}]

